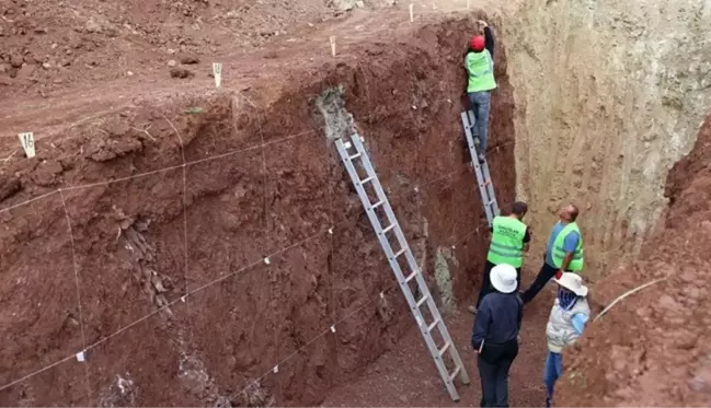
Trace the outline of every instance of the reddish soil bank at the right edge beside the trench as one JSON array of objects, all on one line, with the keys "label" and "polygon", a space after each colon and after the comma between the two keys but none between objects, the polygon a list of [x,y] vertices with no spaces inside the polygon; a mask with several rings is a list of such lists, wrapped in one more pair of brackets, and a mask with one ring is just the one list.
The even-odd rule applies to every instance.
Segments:
[{"label": "reddish soil bank at the right edge beside the trench", "polygon": [[595,288],[616,304],[566,354],[559,407],[686,407],[711,401],[711,115],[692,152],[668,176],[672,205],[641,260]]}]

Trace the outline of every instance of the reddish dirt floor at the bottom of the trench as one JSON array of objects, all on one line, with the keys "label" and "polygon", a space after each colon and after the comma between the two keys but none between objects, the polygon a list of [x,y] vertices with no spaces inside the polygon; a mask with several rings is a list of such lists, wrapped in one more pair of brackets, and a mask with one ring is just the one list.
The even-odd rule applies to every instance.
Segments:
[{"label": "reddish dirt floor at the bottom of the trench", "polygon": [[[532,281],[524,280],[524,283]],[[509,404],[512,407],[542,407],[546,388],[542,383],[542,366],[546,360],[544,325],[553,301],[553,289],[544,289],[526,307],[521,330],[520,351],[509,378]],[[428,408],[428,407],[478,407],[481,399],[479,373],[470,338],[473,315],[466,310],[458,311],[447,319],[452,338],[457,340],[471,380],[469,386],[458,384],[461,397],[451,401],[437,377],[436,369],[427,358],[422,337],[410,331],[393,347],[369,365],[365,375],[336,387],[329,394],[320,408]],[[424,351],[424,353],[423,353]]]}]

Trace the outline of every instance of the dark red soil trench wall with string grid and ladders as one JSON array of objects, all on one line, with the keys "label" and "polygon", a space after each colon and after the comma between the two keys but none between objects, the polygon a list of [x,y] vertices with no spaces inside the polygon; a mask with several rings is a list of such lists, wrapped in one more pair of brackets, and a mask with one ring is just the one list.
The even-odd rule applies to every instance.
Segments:
[{"label": "dark red soil trench wall with string grid and ladders", "polygon": [[[318,404],[411,329],[316,106],[339,85],[443,310],[469,298],[486,235],[459,121],[472,31],[449,21],[352,47],[280,75],[282,92],[267,77],[125,109],[3,173],[0,383],[21,381],[0,405]],[[502,203],[506,72],[500,47],[489,163]]]}]

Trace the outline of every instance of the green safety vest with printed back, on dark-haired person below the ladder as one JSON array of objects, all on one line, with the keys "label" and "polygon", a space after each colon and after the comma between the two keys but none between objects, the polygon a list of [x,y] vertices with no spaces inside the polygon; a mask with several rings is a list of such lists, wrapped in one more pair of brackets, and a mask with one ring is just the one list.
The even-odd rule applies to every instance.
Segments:
[{"label": "green safety vest with printed back, on dark-haired person below the ladder", "polygon": [[526,224],[512,217],[494,217],[486,260],[494,265],[508,264],[520,268],[524,264]]}]

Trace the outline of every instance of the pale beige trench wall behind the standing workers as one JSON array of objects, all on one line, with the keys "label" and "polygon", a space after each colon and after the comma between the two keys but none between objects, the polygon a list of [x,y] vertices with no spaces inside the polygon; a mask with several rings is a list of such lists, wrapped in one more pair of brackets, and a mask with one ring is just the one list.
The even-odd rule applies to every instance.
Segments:
[{"label": "pale beige trench wall behind the standing workers", "polygon": [[517,193],[540,236],[561,202],[578,205],[595,279],[637,256],[711,106],[711,2],[534,0],[501,22]]}]

